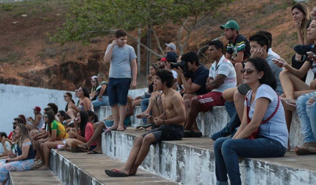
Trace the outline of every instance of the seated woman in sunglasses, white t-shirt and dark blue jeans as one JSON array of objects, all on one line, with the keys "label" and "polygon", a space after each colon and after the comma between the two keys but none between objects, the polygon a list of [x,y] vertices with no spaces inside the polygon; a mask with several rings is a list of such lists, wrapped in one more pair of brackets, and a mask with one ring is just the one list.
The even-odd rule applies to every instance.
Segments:
[{"label": "seated woman in sunglasses, white t-shirt and dark blue jeans", "polygon": [[[238,157],[282,157],[287,149],[289,134],[284,110],[268,63],[262,58],[250,58],[241,73],[251,90],[234,137],[219,138],[214,143],[218,185],[228,185],[227,174],[231,185],[241,184]],[[254,138],[248,139],[251,136]]]}]

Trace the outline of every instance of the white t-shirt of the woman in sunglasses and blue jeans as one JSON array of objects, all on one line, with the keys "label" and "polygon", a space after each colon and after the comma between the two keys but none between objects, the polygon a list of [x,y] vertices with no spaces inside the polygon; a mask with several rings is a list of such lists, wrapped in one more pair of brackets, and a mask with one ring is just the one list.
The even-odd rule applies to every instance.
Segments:
[{"label": "white t-shirt of the woman in sunglasses and blue jeans", "polygon": [[[249,106],[249,118],[252,119],[253,112],[256,106],[256,100],[258,98],[268,98],[270,103],[268,105],[267,110],[262,118],[262,121],[266,120],[268,117],[272,115],[272,113],[276,110],[277,102],[278,102],[278,95],[276,92],[268,85],[262,84],[258,87],[255,99],[250,106],[251,102],[251,95],[252,93],[248,93],[248,106]],[[245,106],[246,100],[245,100]],[[276,111],[275,115],[266,123],[260,124],[258,134],[263,135],[264,137],[271,138],[276,140],[282,144],[285,148],[288,147],[288,128],[286,127],[285,122],[285,114],[282,103],[280,101],[279,108]]]}]

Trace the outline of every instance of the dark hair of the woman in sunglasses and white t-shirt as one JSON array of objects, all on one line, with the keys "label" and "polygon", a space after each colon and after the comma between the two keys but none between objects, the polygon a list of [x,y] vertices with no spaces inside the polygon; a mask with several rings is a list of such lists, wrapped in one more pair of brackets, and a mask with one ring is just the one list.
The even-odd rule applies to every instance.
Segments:
[{"label": "dark hair of the woman in sunglasses and white t-shirt", "polygon": [[265,61],[263,58],[254,57],[249,58],[247,62],[251,62],[259,72],[263,71],[264,75],[261,79],[259,79],[260,84],[267,84],[272,89],[276,90],[276,78],[273,75],[272,70],[267,61]]}]

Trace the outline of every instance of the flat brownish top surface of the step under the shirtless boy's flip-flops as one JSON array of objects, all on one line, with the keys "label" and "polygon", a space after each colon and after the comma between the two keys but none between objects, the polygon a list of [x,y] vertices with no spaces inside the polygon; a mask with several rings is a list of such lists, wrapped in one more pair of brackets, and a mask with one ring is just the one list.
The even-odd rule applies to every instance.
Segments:
[{"label": "flat brownish top surface of the step under the shirtless boy's flip-flops", "polygon": [[[95,182],[78,182],[79,184],[101,184],[106,185],[117,185],[117,184],[124,184],[124,185],[134,185],[134,184],[170,184],[170,185],[179,185],[176,182],[167,180],[161,176],[155,175],[147,170],[140,169],[137,171],[136,176],[129,176],[129,177],[109,177],[105,174],[105,169],[116,169],[122,168],[124,165],[124,161],[110,157],[106,154],[87,154],[86,152],[82,153],[71,153],[67,151],[56,151],[56,160],[68,160],[69,163],[75,164],[78,170],[82,170],[85,174],[93,177]],[[59,159],[58,159],[59,155]],[[70,166],[64,165],[67,162],[63,162],[63,166]],[[61,166],[59,166],[61,167]],[[63,168],[64,168],[63,167]],[[67,171],[71,174],[72,168],[68,168]],[[78,173],[80,176],[84,176],[85,174],[79,172],[78,170],[75,173]],[[66,171],[64,171],[66,173]]]}]

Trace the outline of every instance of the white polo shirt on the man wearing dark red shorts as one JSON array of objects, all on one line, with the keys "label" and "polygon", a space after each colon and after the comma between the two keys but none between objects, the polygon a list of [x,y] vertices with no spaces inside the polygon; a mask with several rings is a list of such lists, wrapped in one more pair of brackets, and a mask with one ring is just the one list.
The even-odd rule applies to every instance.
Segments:
[{"label": "white polo shirt on the man wearing dark red shorts", "polygon": [[214,80],[216,79],[216,75],[218,74],[225,75],[226,77],[224,78],[223,83],[212,91],[223,92],[228,88],[236,87],[236,72],[233,64],[229,60],[227,60],[224,55],[218,61],[217,66],[216,63],[217,62],[215,61],[211,65],[209,77],[212,77]]}]

